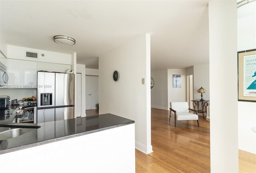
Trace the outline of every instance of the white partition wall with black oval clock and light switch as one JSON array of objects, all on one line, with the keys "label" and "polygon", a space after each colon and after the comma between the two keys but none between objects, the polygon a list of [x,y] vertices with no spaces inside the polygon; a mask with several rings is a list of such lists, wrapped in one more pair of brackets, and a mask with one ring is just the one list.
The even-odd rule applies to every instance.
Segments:
[{"label": "white partition wall with black oval clock and light switch", "polygon": [[[120,74],[113,80],[113,72]],[[145,84],[142,84],[145,78]],[[135,146],[148,154],[151,145],[150,35],[144,34],[99,57],[99,113],[135,121]]]}]

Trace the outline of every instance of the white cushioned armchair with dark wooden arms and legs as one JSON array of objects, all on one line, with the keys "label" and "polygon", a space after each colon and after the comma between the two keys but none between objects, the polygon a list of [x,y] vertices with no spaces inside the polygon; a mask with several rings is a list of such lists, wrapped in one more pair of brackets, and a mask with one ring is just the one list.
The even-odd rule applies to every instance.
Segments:
[{"label": "white cushioned armchair with dark wooden arms and legs", "polygon": [[[197,110],[188,108],[188,102],[170,102],[170,118],[169,123],[171,119],[171,112],[174,112],[174,124],[176,127],[176,120],[197,120],[197,124],[199,126],[198,122],[198,115]],[[194,111],[194,113],[190,113],[189,110]]]}]

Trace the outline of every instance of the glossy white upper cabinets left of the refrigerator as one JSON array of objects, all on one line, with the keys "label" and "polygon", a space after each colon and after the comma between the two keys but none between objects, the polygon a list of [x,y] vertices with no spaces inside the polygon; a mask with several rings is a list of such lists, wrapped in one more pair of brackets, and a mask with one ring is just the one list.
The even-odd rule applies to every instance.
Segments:
[{"label": "glossy white upper cabinets left of the refrigerator", "polygon": [[8,59],[8,88],[36,88],[37,63]]}]

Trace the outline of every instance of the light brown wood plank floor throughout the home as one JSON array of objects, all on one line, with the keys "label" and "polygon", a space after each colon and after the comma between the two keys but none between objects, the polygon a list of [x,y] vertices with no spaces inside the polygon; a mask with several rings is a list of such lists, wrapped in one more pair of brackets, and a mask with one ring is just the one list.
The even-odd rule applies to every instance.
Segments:
[{"label": "light brown wood plank floor throughout the home", "polygon": [[[86,116],[98,115],[98,109],[86,110]],[[136,149],[136,173],[209,173],[210,122],[199,116],[196,121],[169,124],[169,111],[151,109],[153,153]],[[239,150],[239,172],[256,173],[256,155]]]}]

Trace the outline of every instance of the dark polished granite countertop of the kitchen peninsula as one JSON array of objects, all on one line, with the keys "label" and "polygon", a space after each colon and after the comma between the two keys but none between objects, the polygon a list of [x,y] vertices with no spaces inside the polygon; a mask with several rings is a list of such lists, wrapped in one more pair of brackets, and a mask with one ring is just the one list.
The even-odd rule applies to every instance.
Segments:
[{"label": "dark polished granite countertop of the kitchen peninsula", "polygon": [[0,154],[60,141],[80,135],[86,135],[89,133],[95,133],[132,123],[134,123],[133,120],[107,113],[102,115],[82,118],[78,117],[38,124],[1,124],[0,127],[10,127],[10,125],[12,125],[14,128],[20,127],[20,125],[23,125],[23,127],[26,128],[33,128],[35,126],[40,127],[11,139],[0,140]]}]

